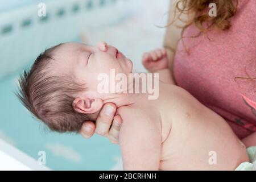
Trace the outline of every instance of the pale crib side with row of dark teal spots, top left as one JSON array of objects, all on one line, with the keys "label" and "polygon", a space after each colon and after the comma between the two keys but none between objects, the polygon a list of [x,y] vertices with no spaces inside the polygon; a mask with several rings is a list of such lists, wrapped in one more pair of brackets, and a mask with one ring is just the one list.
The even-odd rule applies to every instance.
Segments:
[{"label": "pale crib side with row of dark teal spots, top left", "polygon": [[46,1],[0,13],[0,78],[23,67],[60,42],[76,40],[86,28],[117,23],[133,14],[133,0]]}]

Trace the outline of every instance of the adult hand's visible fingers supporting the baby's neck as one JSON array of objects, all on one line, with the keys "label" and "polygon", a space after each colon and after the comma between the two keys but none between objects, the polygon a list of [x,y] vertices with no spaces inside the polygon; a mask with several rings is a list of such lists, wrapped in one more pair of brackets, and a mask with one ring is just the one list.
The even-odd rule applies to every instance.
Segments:
[{"label": "adult hand's visible fingers supporting the baby's neck", "polygon": [[85,121],[80,134],[84,138],[90,138],[96,132],[99,135],[108,137],[110,142],[118,144],[122,118],[119,115],[115,115],[116,110],[117,107],[113,103],[106,103],[102,107],[96,123]]}]

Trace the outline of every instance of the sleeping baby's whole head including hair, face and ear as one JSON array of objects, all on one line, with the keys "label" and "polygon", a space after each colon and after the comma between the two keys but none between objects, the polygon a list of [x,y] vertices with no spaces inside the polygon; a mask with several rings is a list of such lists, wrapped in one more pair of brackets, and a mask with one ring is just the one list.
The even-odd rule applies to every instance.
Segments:
[{"label": "sleeping baby's whole head including hair, face and ear", "polygon": [[100,73],[131,73],[133,64],[106,43],[64,43],[41,53],[20,76],[22,104],[54,131],[79,131],[95,121],[111,94],[97,92]]}]

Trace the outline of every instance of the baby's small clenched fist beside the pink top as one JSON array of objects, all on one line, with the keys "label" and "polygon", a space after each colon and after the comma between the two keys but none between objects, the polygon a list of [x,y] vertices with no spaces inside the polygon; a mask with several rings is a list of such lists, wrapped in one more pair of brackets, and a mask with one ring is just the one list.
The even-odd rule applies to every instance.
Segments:
[{"label": "baby's small clenched fist beside the pink top", "polygon": [[145,52],[142,56],[142,64],[150,72],[168,68],[166,49],[161,48]]}]

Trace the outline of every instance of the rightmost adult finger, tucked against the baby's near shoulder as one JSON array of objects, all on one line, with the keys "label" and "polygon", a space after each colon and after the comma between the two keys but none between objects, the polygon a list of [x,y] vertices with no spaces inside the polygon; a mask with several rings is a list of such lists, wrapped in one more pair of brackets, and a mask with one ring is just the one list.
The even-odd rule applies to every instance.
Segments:
[{"label": "rightmost adult finger, tucked against the baby's near shoulder", "polygon": [[115,115],[112,126],[109,130],[109,139],[112,143],[118,143],[119,132],[122,126],[122,118],[119,115]]}]

